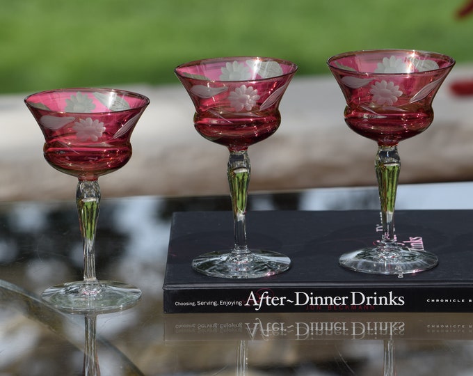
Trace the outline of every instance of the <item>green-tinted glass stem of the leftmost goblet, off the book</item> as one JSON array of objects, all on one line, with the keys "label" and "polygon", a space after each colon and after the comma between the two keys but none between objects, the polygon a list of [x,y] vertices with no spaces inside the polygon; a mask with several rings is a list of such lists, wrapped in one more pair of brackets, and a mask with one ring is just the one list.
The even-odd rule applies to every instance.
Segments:
[{"label": "green-tinted glass stem of the leftmost goblet, off the book", "polygon": [[83,281],[97,287],[95,276],[95,233],[100,209],[98,180],[79,180],[76,192],[77,212],[83,243]]}]

